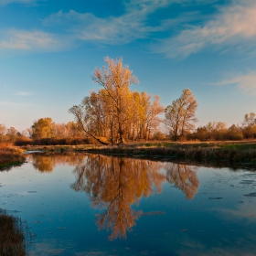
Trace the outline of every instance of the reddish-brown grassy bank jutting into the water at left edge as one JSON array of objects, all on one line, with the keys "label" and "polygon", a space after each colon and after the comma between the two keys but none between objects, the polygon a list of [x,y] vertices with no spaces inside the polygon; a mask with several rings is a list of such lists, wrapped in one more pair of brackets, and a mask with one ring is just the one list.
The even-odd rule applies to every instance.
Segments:
[{"label": "reddish-brown grassy bank jutting into the water at left edge", "polygon": [[23,150],[10,144],[0,144],[0,170],[13,165],[21,165],[25,161]]}]

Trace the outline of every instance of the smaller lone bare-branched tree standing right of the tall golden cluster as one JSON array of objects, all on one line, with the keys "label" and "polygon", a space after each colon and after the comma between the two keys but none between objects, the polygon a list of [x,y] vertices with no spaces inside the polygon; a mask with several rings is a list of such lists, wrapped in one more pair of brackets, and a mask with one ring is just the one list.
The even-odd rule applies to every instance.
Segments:
[{"label": "smaller lone bare-branched tree standing right of the tall golden cluster", "polygon": [[174,134],[175,140],[195,128],[196,111],[197,100],[189,89],[182,91],[181,96],[165,108],[165,125]]}]

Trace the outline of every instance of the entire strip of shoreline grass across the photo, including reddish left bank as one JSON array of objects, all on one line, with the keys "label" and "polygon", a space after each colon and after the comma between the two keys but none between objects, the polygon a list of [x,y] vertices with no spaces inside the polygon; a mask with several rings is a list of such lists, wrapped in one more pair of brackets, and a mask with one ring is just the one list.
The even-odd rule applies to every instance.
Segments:
[{"label": "entire strip of shoreline grass across the photo, including reddish left bank", "polygon": [[[187,164],[256,166],[256,140],[226,142],[144,142],[119,145],[27,145],[1,144],[0,171],[26,162],[26,153],[97,153],[143,157],[152,160],[184,161]],[[25,153],[25,154],[24,154]]]}]

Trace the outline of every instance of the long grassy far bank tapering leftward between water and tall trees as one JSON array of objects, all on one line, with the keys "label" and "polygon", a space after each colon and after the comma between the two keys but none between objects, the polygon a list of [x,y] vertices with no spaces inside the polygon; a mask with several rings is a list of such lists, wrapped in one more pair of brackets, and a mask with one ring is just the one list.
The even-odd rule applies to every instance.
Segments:
[{"label": "long grassy far bank tapering leftward between water and tall trees", "polygon": [[[27,148],[29,149],[29,148]],[[256,165],[256,141],[206,143],[142,143],[112,146],[73,145],[33,147],[47,152],[91,152],[107,155],[146,156],[187,161],[221,161],[230,164]]]}]

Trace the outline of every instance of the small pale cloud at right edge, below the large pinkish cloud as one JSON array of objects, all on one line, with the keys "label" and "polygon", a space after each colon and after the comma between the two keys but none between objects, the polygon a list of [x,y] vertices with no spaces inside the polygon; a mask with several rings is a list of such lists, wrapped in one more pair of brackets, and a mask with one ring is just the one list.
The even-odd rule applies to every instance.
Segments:
[{"label": "small pale cloud at right edge, below the large pinkish cloud", "polygon": [[242,91],[250,94],[256,94],[256,70],[248,74],[240,74],[233,76],[228,80],[220,80],[212,83],[212,85],[236,85]]}]

